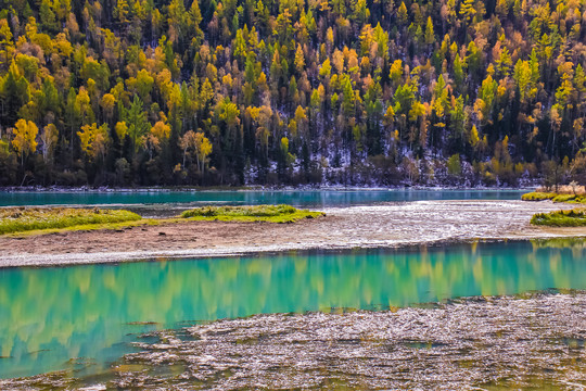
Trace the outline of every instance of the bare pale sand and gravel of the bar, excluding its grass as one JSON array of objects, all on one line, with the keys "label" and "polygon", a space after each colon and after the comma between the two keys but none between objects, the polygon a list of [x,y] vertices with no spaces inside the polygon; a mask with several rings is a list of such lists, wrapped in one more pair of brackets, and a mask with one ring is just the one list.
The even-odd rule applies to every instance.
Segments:
[{"label": "bare pale sand and gravel of the bar, excluding its grass", "polygon": [[322,209],[295,224],[189,222],[118,230],[0,237],[0,267],[119,263],[309,249],[402,247],[472,240],[585,236],[586,228],[530,225],[572,205],[523,201],[416,201]]}]

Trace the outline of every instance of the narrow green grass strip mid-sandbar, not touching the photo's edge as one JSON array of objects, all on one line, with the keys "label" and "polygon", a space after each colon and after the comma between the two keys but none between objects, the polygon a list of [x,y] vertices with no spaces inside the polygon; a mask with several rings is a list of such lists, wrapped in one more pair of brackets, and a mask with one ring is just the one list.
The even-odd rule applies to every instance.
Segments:
[{"label": "narrow green grass strip mid-sandbar, not touching the photo's edge", "polygon": [[204,206],[186,211],[182,218],[220,222],[294,223],[323,216],[322,212],[298,210],[291,205]]}]

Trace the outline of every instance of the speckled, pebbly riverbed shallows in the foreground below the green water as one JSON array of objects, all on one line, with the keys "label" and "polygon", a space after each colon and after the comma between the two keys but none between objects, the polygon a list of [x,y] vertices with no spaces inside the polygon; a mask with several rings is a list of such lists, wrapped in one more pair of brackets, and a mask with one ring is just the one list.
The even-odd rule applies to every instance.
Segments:
[{"label": "speckled, pebbly riverbed shallows in the foreground below the green water", "polygon": [[[380,312],[271,314],[144,335],[93,390],[586,387],[586,293],[471,298]],[[71,373],[0,380],[75,388]]]}]

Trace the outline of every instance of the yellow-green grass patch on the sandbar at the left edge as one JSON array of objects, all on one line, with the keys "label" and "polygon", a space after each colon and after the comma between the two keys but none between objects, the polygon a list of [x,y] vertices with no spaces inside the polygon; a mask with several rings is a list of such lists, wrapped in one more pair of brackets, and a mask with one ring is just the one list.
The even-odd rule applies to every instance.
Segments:
[{"label": "yellow-green grass patch on the sandbar at the left edge", "polygon": [[0,209],[0,235],[73,228],[100,229],[141,220],[138,214],[124,210],[73,207],[7,207]]}]

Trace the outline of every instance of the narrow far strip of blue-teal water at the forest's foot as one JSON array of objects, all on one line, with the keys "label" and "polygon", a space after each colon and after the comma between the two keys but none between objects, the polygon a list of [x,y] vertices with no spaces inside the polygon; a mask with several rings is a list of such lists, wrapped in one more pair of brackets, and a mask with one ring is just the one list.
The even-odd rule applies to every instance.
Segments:
[{"label": "narrow far strip of blue-teal water at the forest's foot", "polygon": [[103,204],[280,204],[348,206],[390,201],[519,200],[524,190],[307,190],[307,191],[114,191],[0,192],[0,206]]}]

